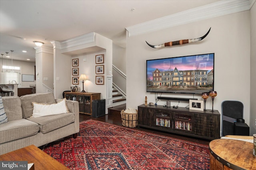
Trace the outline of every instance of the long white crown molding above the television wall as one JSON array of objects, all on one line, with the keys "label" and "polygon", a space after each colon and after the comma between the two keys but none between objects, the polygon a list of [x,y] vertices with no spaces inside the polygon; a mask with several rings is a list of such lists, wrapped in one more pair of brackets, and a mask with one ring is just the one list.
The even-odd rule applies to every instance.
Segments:
[{"label": "long white crown molding above the television wall", "polygon": [[220,0],[218,2],[126,27],[129,37],[178,25],[250,10],[255,0]]}]

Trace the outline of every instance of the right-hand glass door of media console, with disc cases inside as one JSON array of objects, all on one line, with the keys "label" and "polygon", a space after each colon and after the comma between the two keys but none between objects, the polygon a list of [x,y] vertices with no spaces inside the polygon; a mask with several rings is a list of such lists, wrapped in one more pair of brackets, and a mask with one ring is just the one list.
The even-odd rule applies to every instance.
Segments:
[{"label": "right-hand glass door of media console, with disc cases inside", "polygon": [[186,131],[194,133],[194,114],[191,113],[176,113],[174,112],[174,129],[178,131]]}]

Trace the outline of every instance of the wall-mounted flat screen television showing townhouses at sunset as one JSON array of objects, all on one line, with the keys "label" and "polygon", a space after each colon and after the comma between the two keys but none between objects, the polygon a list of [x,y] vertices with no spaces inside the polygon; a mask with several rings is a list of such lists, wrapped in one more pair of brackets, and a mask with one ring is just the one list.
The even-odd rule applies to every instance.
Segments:
[{"label": "wall-mounted flat screen television showing townhouses at sunset", "polygon": [[146,61],[147,92],[202,94],[214,90],[214,53]]}]

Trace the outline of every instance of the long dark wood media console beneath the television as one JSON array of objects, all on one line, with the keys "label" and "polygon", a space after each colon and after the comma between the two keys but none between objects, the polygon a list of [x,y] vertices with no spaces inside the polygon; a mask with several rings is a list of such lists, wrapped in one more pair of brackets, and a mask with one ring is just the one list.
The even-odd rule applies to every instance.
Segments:
[{"label": "long dark wood media console beneath the television", "polygon": [[146,127],[202,139],[220,138],[218,110],[196,111],[185,107],[138,106],[138,128]]}]

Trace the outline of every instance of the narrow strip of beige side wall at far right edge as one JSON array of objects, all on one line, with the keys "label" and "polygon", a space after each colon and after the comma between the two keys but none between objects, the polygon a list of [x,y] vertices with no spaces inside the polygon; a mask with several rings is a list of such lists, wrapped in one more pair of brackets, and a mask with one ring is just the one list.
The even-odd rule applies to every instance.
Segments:
[{"label": "narrow strip of beige side wall at far right edge", "polygon": [[250,135],[256,134],[256,3],[251,14]]}]

